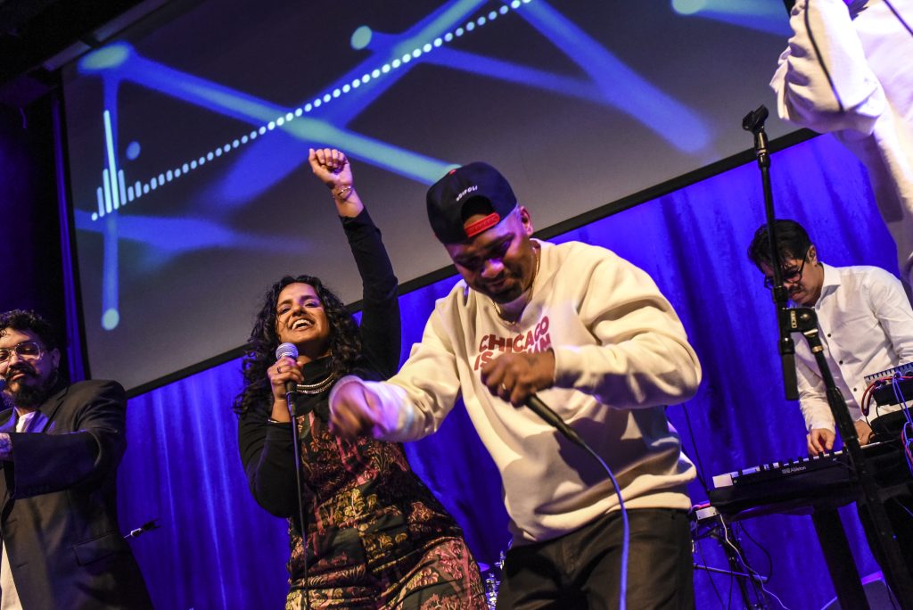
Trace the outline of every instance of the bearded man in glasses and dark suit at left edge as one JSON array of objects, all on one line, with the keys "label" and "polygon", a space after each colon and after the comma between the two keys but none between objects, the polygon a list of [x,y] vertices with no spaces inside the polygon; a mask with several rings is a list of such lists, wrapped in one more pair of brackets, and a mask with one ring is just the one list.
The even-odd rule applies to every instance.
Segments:
[{"label": "bearded man in glasses and dark suit at left edge", "polygon": [[0,314],[0,605],[151,608],[117,520],[126,394],[67,384],[59,361],[47,321]]}]

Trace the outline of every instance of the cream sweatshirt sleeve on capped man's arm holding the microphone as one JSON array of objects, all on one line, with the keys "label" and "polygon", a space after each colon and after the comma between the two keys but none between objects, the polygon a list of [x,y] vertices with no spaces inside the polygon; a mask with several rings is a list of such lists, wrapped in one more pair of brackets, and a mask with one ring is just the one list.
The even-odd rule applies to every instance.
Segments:
[{"label": "cream sweatshirt sleeve on capped man's arm holding the microphone", "polygon": [[694,395],[698,355],[653,279],[602,248],[575,258],[565,266],[578,270],[578,316],[594,342],[552,346],[555,385],[614,408],[671,405]]}]

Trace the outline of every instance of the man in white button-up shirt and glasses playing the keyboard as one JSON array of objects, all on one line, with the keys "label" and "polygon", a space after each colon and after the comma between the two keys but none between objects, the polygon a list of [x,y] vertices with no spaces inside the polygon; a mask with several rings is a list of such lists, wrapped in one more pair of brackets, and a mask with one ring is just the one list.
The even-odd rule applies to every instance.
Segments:
[{"label": "man in white button-up shirt and glasses playing the keyboard", "polygon": [[[860,408],[866,390],[864,377],[913,362],[913,310],[907,295],[900,280],[882,268],[825,265],[799,223],[777,220],[775,225],[783,286],[792,302],[815,310],[824,357],[855,422],[859,444],[867,445],[872,427]],[[766,225],[755,233],[748,256],[764,274],[764,285],[771,288],[773,268]],[[808,452],[816,455],[834,447],[834,415],[818,365],[803,340],[796,341],[796,373]],[[879,415],[897,408],[882,409]],[[908,569],[913,568],[913,516],[908,512],[913,510],[913,499],[909,493],[897,495],[885,502],[885,510]],[[884,564],[877,556],[878,545],[872,544],[867,514],[860,510],[860,517],[876,559]]]}]

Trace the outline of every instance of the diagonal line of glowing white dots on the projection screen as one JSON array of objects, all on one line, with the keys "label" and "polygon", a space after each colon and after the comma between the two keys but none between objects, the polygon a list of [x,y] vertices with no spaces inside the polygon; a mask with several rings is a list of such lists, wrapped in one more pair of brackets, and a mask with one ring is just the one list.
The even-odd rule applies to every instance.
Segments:
[{"label": "diagonal line of glowing white dots on the projection screen", "polygon": [[[274,131],[278,127],[282,127],[290,121],[294,121],[296,118],[301,117],[305,114],[312,112],[313,110],[319,109],[321,106],[331,103],[333,100],[338,100],[342,96],[351,93],[353,90],[358,89],[362,85],[366,85],[371,82],[373,79],[380,79],[383,75],[389,74],[391,71],[403,67],[405,64],[408,64],[413,59],[418,59],[427,53],[431,53],[438,47],[443,47],[444,45],[453,42],[456,38],[463,37],[469,32],[475,31],[477,28],[486,26],[493,22],[498,16],[507,15],[510,10],[518,10],[522,5],[527,5],[531,0],[511,0],[509,4],[504,4],[498,7],[498,9],[493,9],[488,12],[486,15],[478,16],[474,19],[470,19],[462,26],[456,27],[456,29],[447,32],[445,35],[436,37],[433,41],[427,42],[419,47],[415,47],[411,52],[404,53],[401,58],[395,58],[394,60],[384,63],[383,66],[379,68],[374,68],[370,72],[365,72],[360,78],[352,79],[352,82],[346,83],[341,87],[337,87],[332,91],[325,92],[322,96],[317,96],[308,103],[299,106],[295,110],[290,110],[284,115],[279,115],[272,121],[261,125],[259,128],[242,135],[240,138],[236,138],[231,142],[227,142],[222,146],[219,146],[208,153],[200,155],[198,158],[193,161],[183,163],[179,167],[170,169],[162,174],[157,176],[152,176],[148,182],[136,181],[134,184],[126,185],[124,184],[123,170],[113,169],[111,174],[116,174],[117,179],[111,180],[109,175],[106,175],[102,184],[103,187],[98,188],[98,212],[92,213],[92,220],[98,220],[102,216],[106,216],[111,212],[117,210],[122,205],[127,205],[128,202],[132,202],[135,199],[139,199],[142,195],[148,195],[150,192],[156,190],[160,186],[173,182],[180,178],[183,175],[189,174],[194,170],[203,167],[206,163],[215,161],[215,159],[221,157],[224,154],[231,153],[236,149],[244,146],[249,142],[257,140],[258,137],[266,135],[269,131]],[[106,140],[110,136],[106,134]],[[110,144],[110,142],[107,142]],[[105,174],[109,173],[108,169],[104,170]],[[117,186],[120,185],[120,189]],[[110,188],[113,186],[113,189]],[[126,186],[126,189],[124,189]],[[112,193],[111,191],[116,191]],[[119,194],[119,196],[118,196]],[[112,195],[114,195],[112,197]],[[111,205],[111,199],[113,198],[113,205]],[[120,201],[118,201],[120,199]]]}]

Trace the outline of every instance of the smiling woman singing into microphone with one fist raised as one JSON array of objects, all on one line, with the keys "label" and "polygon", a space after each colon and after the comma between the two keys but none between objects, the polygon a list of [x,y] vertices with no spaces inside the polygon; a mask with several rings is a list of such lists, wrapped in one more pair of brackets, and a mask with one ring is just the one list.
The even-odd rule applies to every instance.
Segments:
[{"label": "smiling woman singing into microphone with one fist raised", "polygon": [[[393,268],[348,159],[323,149],[308,160],[331,189],[364,293],[359,326],[320,279],[286,276],[267,292],[247,342],[246,386],[235,401],[238,445],[257,503],[289,520],[286,607],[485,608],[462,531],[409,468],[403,447],[330,432],[327,397],[342,375],[395,373],[400,317]],[[276,359],[285,342],[297,346],[297,360]],[[300,496],[289,382],[297,386]]]}]

